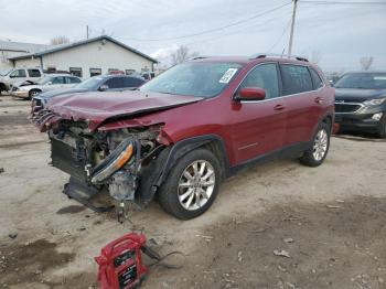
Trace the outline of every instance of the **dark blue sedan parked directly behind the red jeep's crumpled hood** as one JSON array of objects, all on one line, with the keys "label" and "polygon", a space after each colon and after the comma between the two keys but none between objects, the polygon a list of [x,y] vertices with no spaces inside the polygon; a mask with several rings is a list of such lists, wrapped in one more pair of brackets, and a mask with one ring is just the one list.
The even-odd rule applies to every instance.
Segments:
[{"label": "dark blue sedan parked directly behind the red jeep's crumpled hood", "polygon": [[97,75],[93,76],[73,88],[55,89],[33,97],[32,107],[42,106],[57,96],[86,93],[86,92],[121,92],[135,89],[144,83],[142,78],[126,75]]}]

